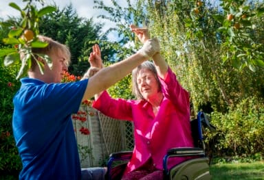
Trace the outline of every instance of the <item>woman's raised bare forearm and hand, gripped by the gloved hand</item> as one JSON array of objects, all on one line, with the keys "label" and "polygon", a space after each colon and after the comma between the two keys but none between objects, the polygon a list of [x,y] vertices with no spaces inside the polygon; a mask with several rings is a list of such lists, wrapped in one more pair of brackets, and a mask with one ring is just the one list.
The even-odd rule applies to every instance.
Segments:
[{"label": "woman's raised bare forearm and hand, gripped by the gloved hand", "polygon": [[[137,38],[140,40],[140,42],[142,42],[143,44],[144,42],[146,42],[146,40],[151,38],[147,28],[139,28],[135,25],[131,25],[130,27]],[[164,60],[164,57],[162,57],[160,53],[156,53],[155,55],[153,55],[153,62],[157,69],[157,74],[159,75],[159,77],[162,77],[162,79],[164,79],[168,71],[168,64]]]}]

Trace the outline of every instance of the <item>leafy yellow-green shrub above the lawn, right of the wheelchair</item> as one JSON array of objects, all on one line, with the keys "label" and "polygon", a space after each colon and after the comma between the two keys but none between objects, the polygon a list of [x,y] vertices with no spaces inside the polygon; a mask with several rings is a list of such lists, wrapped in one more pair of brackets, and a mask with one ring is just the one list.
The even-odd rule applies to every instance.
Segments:
[{"label": "leafy yellow-green shrub above the lawn, right of the wheelchair", "polygon": [[263,99],[244,99],[228,114],[212,112],[216,133],[207,134],[207,142],[217,156],[250,157],[264,149]]}]

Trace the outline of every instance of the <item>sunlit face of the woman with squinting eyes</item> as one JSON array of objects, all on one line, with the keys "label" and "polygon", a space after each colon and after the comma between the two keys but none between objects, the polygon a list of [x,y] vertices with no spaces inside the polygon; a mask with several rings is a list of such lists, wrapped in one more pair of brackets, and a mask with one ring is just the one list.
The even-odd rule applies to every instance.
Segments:
[{"label": "sunlit face of the woman with squinting eyes", "polygon": [[159,88],[154,74],[146,68],[142,68],[137,74],[137,87],[146,100],[155,97]]}]

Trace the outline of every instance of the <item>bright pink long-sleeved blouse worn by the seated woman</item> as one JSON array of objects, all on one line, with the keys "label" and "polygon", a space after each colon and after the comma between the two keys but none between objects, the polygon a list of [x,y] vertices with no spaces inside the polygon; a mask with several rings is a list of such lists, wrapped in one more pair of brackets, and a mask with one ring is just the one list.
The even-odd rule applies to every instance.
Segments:
[{"label": "bright pink long-sleeved blouse worn by the seated woman", "polygon": [[[162,160],[168,149],[193,147],[188,92],[181,87],[170,68],[165,79],[159,79],[164,99],[157,116],[154,116],[148,101],[112,99],[106,91],[93,103],[93,107],[106,116],[133,120],[135,146],[125,173],[139,168],[150,157],[153,159],[153,166],[162,170]],[[170,158],[168,168],[186,159],[188,157]]]}]

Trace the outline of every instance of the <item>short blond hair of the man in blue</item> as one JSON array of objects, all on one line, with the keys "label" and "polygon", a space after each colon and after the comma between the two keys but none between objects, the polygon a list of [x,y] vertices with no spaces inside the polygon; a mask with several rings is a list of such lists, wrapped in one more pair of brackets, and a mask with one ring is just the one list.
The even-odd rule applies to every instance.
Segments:
[{"label": "short blond hair of the man in blue", "polygon": [[[45,55],[52,55],[53,53],[57,53],[58,50],[61,50],[63,52],[63,55],[66,57],[66,63],[67,66],[69,66],[69,63],[71,61],[71,53],[69,51],[69,48],[65,46],[64,44],[61,44],[60,42],[57,42],[56,40],[53,40],[52,38],[46,37],[46,36],[38,36],[39,41],[41,42],[47,42],[47,47],[44,48],[32,48],[32,53],[34,54],[35,59],[39,57],[36,55],[37,53],[45,54]],[[23,55],[22,55],[23,57]],[[36,68],[36,60],[32,58],[32,66],[30,70],[34,70]]]}]

